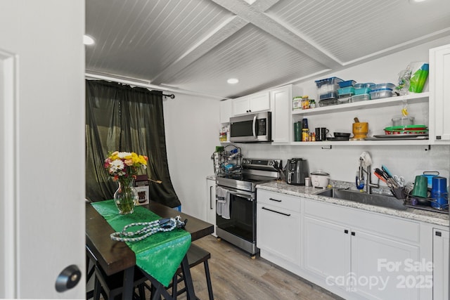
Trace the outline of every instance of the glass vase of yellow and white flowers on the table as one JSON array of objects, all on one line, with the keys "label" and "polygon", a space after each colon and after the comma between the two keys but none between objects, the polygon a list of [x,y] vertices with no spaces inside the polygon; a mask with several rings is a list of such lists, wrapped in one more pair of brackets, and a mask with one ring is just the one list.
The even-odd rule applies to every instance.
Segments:
[{"label": "glass vase of yellow and white flowers on the table", "polygon": [[114,201],[120,214],[132,214],[134,205],[139,199],[133,187],[139,168],[146,168],[148,157],[135,152],[109,152],[105,159],[105,169],[113,181],[119,182],[119,188],[114,193]]}]

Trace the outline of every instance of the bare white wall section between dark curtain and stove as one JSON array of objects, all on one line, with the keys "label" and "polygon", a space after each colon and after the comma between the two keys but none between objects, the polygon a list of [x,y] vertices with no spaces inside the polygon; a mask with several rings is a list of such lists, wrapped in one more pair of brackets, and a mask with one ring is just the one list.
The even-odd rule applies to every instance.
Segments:
[{"label": "bare white wall section between dark curtain and stove", "polygon": [[206,176],[219,143],[219,100],[176,94],[164,102],[167,160],[186,214],[206,218]]}]

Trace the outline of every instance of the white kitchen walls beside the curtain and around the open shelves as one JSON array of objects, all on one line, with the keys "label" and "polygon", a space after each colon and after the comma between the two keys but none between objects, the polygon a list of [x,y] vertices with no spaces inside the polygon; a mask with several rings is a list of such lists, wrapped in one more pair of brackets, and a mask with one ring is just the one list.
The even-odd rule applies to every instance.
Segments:
[{"label": "white kitchen walls beside the curtain and around the open shelves", "polygon": [[[450,37],[416,46],[407,51],[351,67],[347,70],[324,74],[316,79],[331,76],[342,79],[354,79],[358,82],[392,82],[397,84],[398,73],[411,61],[428,61],[428,50],[437,46],[450,44]],[[314,80],[297,84],[304,95],[316,96]],[[428,86],[425,87],[428,89]],[[293,95],[294,96],[294,95]],[[428,124],[423,106],[411,105],[411,115],[416,114],[420,121]],[[386,116],[386,124],[392,118]],[[327,122],[335,126],[335,130],[347,129],[351,132],[353,115],[340,117],[327,116]],[[364,116],[364,113],[362,115]],[[312,120],[311,120],[312,122]],[[346,123],[347,122],[347,123]],[[167,155],[169,170],[176,193],[179,195],[183,210],[193,216],[203,218],[206,211],[205,177],[213,174],[210,156],[214,146],[219,145],[219,103],[217,100],[177,95],[175,100],[165,102],[165,124],[167,137]],[[310,128],[314,124],[310,124]],[[378,124],[379,128],[380,124]],[[333,132],[333,131],[332,131]],[[244,157],[278,158],[303,157],[308,159],[310,171],[324,170],[332,179],[354,181],[359,165],[361,152],[370,152],[374,167],[385,164],[394,174],[404,176],[406,181],[413,181],[416,174],[423,171],[439,170],[443,176],[449,176],[450,146],[339,146],[333,145],[331,150],[323,150],[320,146],[292,146],[268,144],[236,144],[243,149]],[[425,149],[427,149],[425,151]]]}]

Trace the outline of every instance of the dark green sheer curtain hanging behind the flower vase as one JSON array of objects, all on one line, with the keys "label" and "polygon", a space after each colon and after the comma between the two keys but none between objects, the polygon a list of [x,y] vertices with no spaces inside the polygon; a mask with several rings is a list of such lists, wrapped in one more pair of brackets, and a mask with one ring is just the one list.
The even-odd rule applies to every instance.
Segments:
[{"label": "dark green sheer curtain hanging behind the flower vase", "polygon": [[162,92],[108,81],[86,80],[86,198],[113,199],[117,183],[103,167],[108,151],[148,156],[141,171],[150,181],[150,200],[178,207],[169,176]]}]

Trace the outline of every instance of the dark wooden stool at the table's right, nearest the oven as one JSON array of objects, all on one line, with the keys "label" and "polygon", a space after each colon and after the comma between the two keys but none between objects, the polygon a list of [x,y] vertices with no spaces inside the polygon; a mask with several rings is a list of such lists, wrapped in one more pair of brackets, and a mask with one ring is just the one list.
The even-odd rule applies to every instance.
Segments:
[{"label": "dark wooden stool at the table's right, nearest the oven", "polygon": [[[206,284],[208,288],[208,295],[210,300],[214,300],[214,296],[212,294],[212,285],[211,285],[211,276],[210,276],[210,267],[208,265],[208,259],[211,258],[210,252],[207,252],[205,249],[202,249],[198,247],[195,244],[191,244],[191,247],[189,247],[187,252],[188,257],[188,264],[189,268],[193,268],[200,263],[203,263],[203,266],[205,268],[205,277],[206,277]],[[179,282],[184,281],[183,271],[181,268],[178,268],[176,270],[176,273],[174,275],[174,278],[172,280],[172,284],[169,285],[168,289],[172,287],[172,297],[174,300],[176,300],[176,297],[186,292],[186,287],[178,290],[177,285]]]}]

